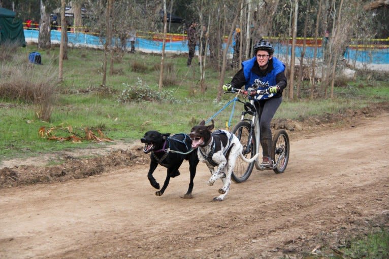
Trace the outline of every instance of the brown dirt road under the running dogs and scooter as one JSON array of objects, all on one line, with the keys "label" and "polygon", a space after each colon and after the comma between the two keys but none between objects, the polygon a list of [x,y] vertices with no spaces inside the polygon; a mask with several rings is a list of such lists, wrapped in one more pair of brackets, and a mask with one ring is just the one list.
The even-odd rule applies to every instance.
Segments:
[{"label": "brown dirt road under the running dogs and scooter", "polygon": [[[389,114],[291,139],[283,174],[256,171],[212,202],[221,181],[187,164],[161,197],[132,166],[64,183],[2,189],[1,258],[300,257],[388,225]],[[154,173],[162,182],[166,170]],[[323,252],[323,251],[321,251]]]}]

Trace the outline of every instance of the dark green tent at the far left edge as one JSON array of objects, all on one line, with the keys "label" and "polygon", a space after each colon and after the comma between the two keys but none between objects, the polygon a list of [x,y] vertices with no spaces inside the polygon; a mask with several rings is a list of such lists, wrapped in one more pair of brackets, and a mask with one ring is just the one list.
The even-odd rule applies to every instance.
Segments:
[{"label": "dark green tent at the far left edge", "polygon": [[11,10],[0,8],[0,45],[10,42],[26,46],[23,23]]}]

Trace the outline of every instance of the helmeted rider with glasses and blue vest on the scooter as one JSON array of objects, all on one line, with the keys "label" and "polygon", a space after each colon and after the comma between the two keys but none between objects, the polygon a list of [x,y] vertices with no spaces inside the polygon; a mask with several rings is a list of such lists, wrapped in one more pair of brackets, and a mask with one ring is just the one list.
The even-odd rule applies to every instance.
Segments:
[{"label": "helmeted rider with glasses and blue vest on the scooter", "polygon": [[[241,88],[254,93],[255,107],[258,112],[259,126],[261,130],[260,142],[263,150],[262,166],[272,167],[271,159],[272,131],[270,122],[282,102],[282,91],[287,85],[285,77],[285,65],[273,57],[273,46],[260,40],[253,47],[254,57],[242,62],[242,68],[233,77],[231,83],[223,85],[224,91],[231,88]],[[269,94],[259,94],[258,90],[268,89]],[[257,92],[258,91],[258,92]]]}]

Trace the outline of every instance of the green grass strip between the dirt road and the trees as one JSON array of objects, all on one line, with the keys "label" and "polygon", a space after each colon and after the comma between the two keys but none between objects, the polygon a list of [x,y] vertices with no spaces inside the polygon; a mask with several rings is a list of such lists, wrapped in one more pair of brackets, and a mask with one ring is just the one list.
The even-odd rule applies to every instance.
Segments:
[{"label": "green grass strip between the dirt road and the trees", "polygon": [[[16,69],[20,59],[27,62],[28,53],[32,51],[39,50],[35,45],[16,49],[14,52],[19,57],[18,61],[0,61],[0,69],[2,69],[0,71]],[[0,105],[3,104],[0,106],[2,121],[0,161],[10,157],[35,156],[71,147],[98,145],[89,141],[81,143],[48,141],[38,134],[43,126],[99,128],[114,141],[124,142],[137,141],[145,131],[150,129],[169,133],[188,133],[194,124],[209,119],[234,97],[225,94],[220,102],[214,101],[219,73],[213,69],[206,70],[207,91],[201,94],[200,69],[195,65],[197,61],[195,60],[193,66],[188,68],[186,55],[167,55],[164,71],[168,76],[164,79],[164,93],[160,93],[157,86],[160,64],[158,55],[126,53],[120,62],[114,64],[115,73],[112,76],[107,75],[104,88],[101,87],[103,51],[77,48],[68,51],[69,59],[63,63],[64,81],[60,84],[56,84],[55,79],[58,71],[58,47],[40,51],[43,65],[29,67],[34,72],[34,81],[37,81],[37,73],[41,78],[50,77],[51,86],[57,89],[49,120],[38,119],[36,104],[18,99],[10,100],[0,95]],[[8,55],[7,58],[10,59],[10,56]],[[15,67],[12,68],[12,65]],[[235,72],[232,69],[226,71],[224,81],[229,82]],[[349,82],[346,87],[336,87],[334,99],[288,101],[284,98],[275,118],[297,120],[388,101],[388,83],[372,81],[371,78],[374,77],[369,77],[369,80]],[[120,101],[123,91],[131,87],[147,88],[152,98],[158,97],[160,100]],[[195,95],[191,95],[192,92],[195,92]],[[242,106],[237,103],[232,126],[239,120],[241,109]],[[232,105],[223,109],[215,118],[215,127],[225,128],[231,111]],[[57,131],[55,134],[64,134],[64,132]]]}]

